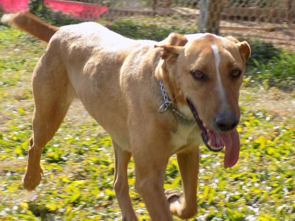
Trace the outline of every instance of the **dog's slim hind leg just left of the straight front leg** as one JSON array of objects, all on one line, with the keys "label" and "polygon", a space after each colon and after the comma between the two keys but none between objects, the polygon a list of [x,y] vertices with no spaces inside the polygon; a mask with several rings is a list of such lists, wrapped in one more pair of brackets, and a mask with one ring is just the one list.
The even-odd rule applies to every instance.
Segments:
[{"label": "dog's slim hind leg just left of the straight front leg", "polygon": [[115,153],[115,175],[114,189],[121,208],[122,221],[137,221],[137,216],[132,208],[129,196],[129,186],[127,177],[127,166],[131,158],[131,153],[123,150],[112,140]]}]

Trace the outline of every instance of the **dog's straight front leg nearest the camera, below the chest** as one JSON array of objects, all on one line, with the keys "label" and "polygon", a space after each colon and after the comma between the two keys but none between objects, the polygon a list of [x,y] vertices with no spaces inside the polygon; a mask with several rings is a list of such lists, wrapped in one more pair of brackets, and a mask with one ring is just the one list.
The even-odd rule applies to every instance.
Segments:
[{"label": "dog's straight front leg nearest the camera, below the chest", "polygon": [[132,141],[135,187],[153,221],[172,221],[163,187],[168,159],[171,156],[167,139],[157,127],[151,127],[150,130],[137,127],[137,132],[137,137]]}]

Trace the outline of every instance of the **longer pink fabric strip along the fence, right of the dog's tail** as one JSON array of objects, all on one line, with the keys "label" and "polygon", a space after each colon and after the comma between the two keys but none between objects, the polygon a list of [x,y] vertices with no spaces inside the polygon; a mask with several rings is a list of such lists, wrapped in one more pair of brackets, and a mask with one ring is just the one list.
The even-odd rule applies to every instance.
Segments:
[{"label": "longer pink fabric strip along the fence, right of the dog's tail", "polygon": [[44,0],[44,5],[50,9],[72,14],[77,18],[98,18],[101,13],[108,10],[107,7],[104,7],[101,4],[77,1]]}]

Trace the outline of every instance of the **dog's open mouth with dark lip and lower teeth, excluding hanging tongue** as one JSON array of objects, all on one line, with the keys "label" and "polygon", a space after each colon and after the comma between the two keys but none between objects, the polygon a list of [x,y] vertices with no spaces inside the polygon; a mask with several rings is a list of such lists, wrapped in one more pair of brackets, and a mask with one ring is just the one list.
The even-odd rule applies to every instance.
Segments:
[{"label": "dog's open mouth with dark lip and lower teeth, excluding hanging tongue", "polygon": [[218,133],[206,128],[206,125],[201,121],[199,118],[199,114],[194,107],[194,105],[187,99],[187,103],[189,104],[189,107],[191,108],[191,112],[194,115],[194,118],[200,128],[200,133],[203,139],[204,144],[207,146],[207,148],[211,151],[218,152],[221,151],[224,148],[224,142],[220,139],[220,136]]}]

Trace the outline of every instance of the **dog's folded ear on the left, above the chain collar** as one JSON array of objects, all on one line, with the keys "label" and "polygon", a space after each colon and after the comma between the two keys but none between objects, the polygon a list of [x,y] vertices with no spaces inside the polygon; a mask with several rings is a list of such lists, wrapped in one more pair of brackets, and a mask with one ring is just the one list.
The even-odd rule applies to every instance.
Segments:
[{"label": "dog's folded ear on the left, above the chain collar", "polygon": [[169,55],[179,55],[180,51],[183,49],[183,46],[188,42],[186,37],[184,37],[182,34],[178,33],[171,33],[169,36],[161,41],[155,44],[155,47],[163,47],[164,50],[161,53],[161,58],[166,59],[169,57]]}]

